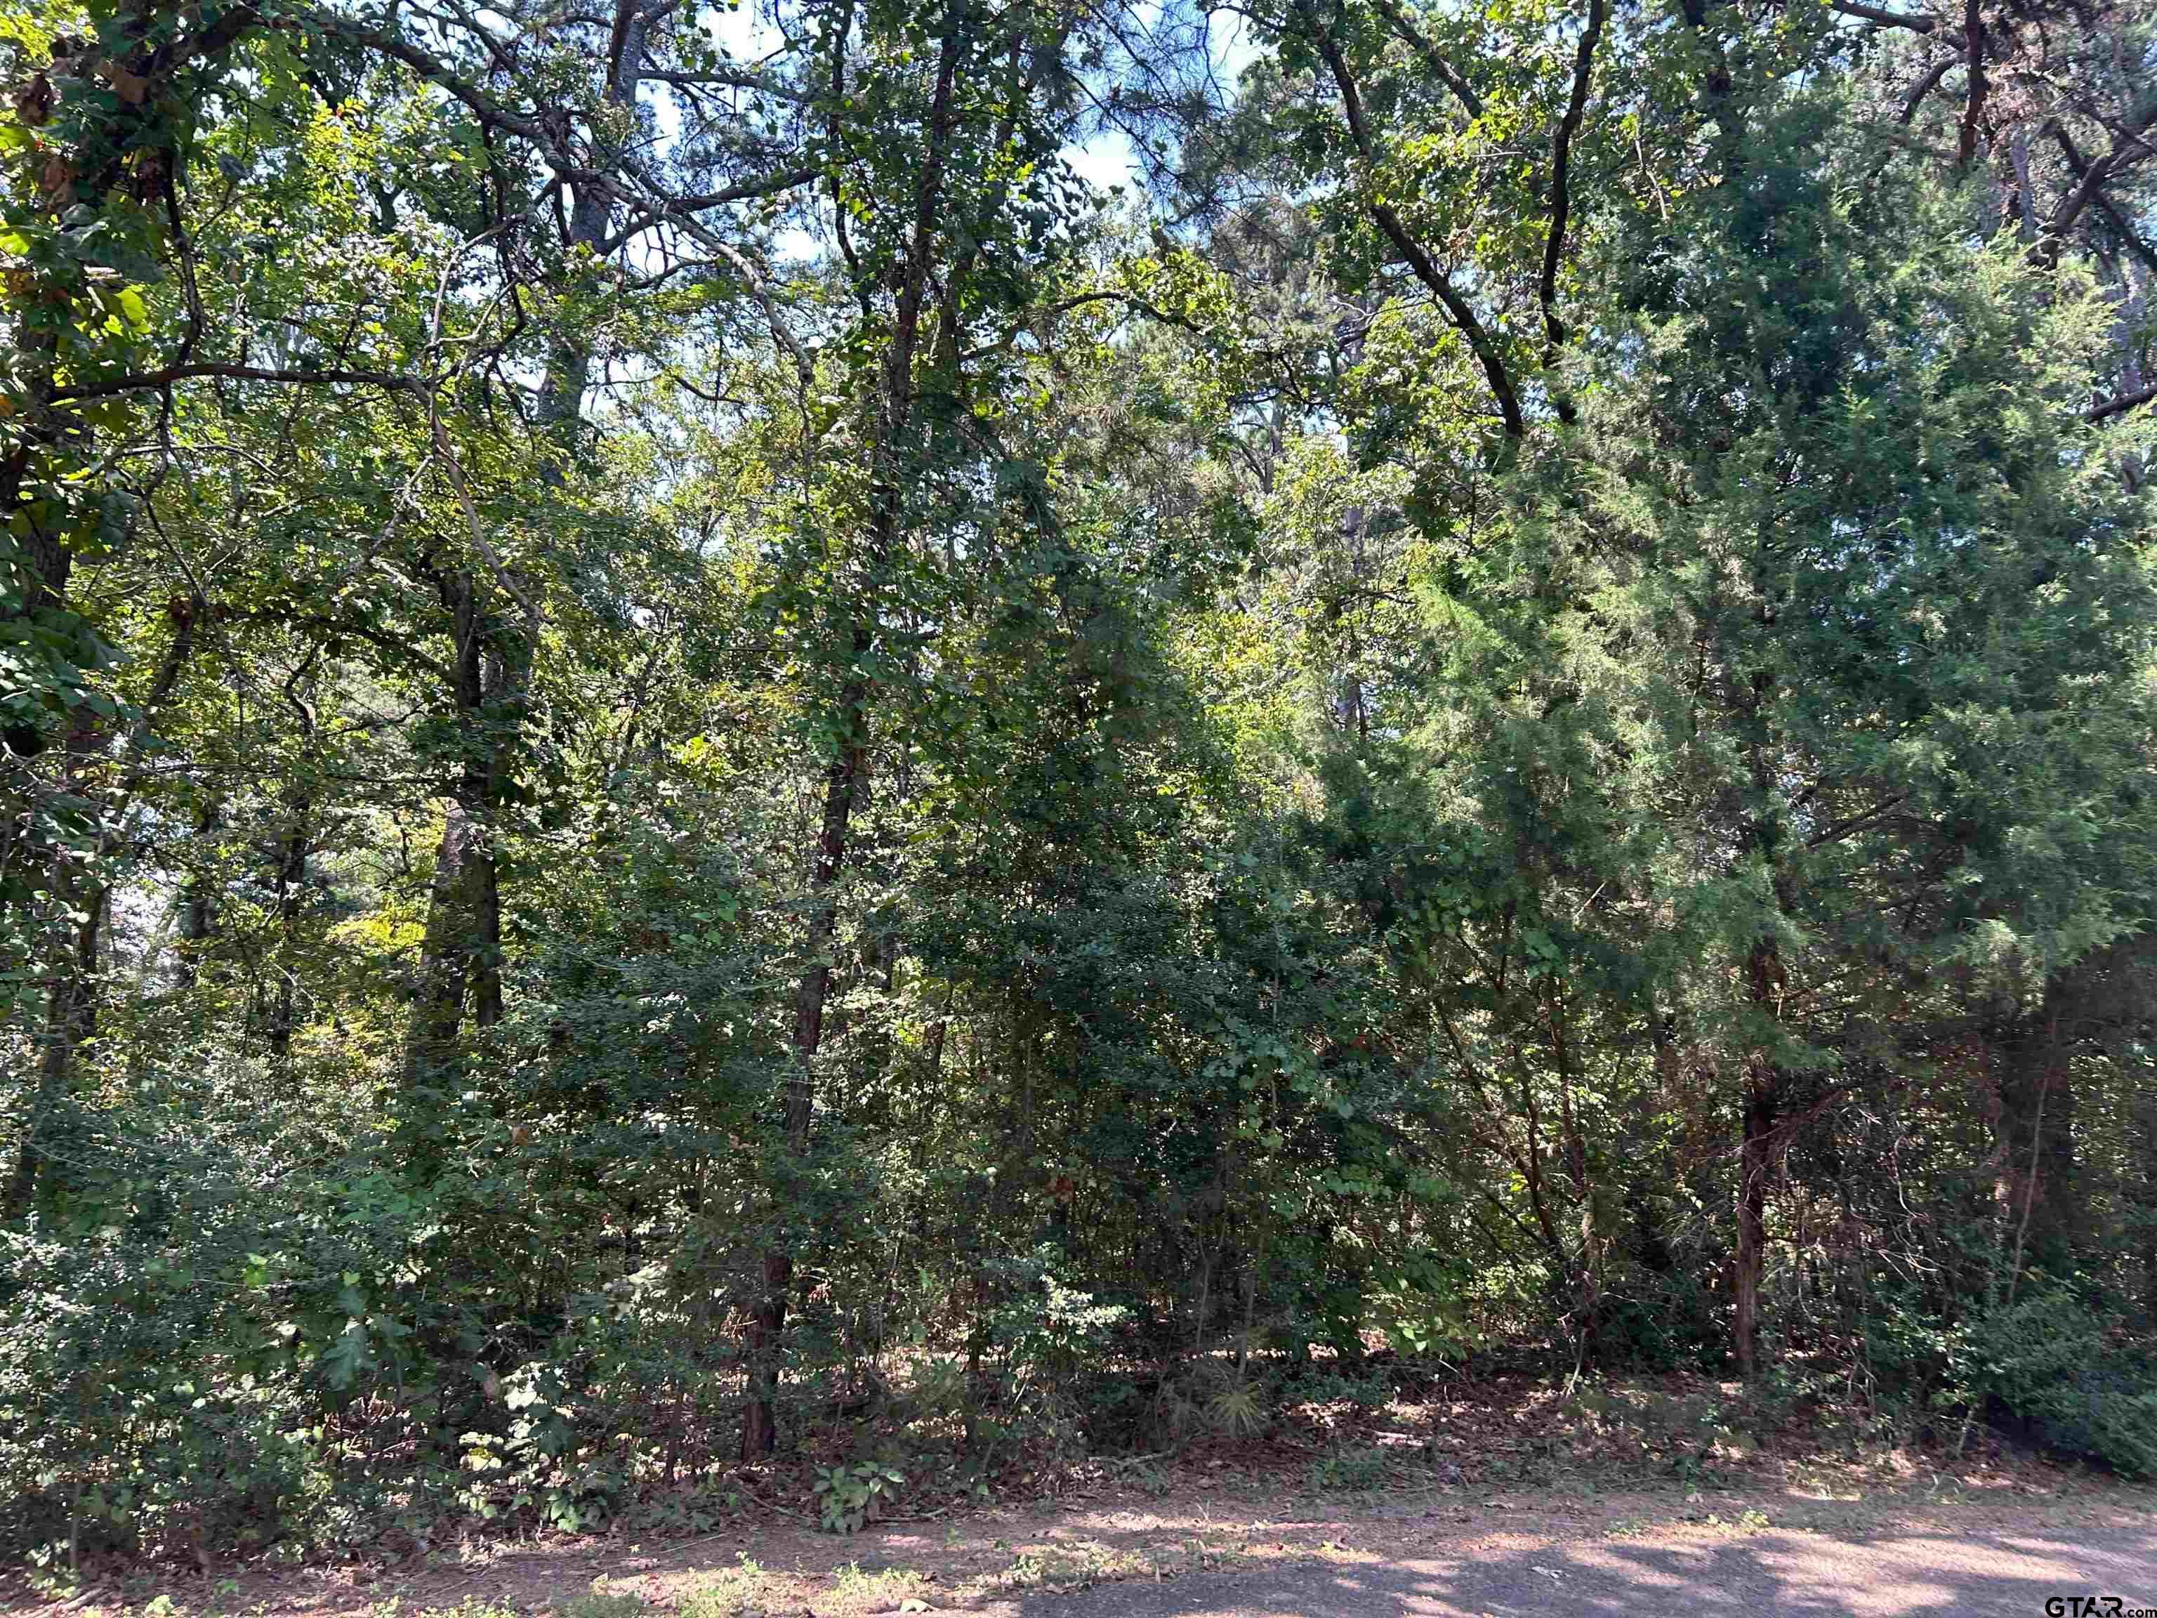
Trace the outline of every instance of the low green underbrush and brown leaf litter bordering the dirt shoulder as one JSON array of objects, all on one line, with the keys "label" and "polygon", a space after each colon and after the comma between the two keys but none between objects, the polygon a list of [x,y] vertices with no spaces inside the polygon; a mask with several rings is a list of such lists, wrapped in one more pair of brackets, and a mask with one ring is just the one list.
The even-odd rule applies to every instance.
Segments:
[{"label": "low green underbrush and brown leaf litter bordering the dirt shoulder", "polygon": [[[145,1251],[125,1232],[15,1240],[0,1312],[0,1536],[9,1560],[369,1553],[468,1532],[703,1532],[785,1506],[828,1532],[1102,1465],[1160,1476],[1227,1456],[1303,1486],[1685,1482],[1890,1450],[1963,1465],[2004,1439],[2127,1476],[2157,1471],[2146,1340],[2056,1286],[1883,1366],[1790,1353],[1726,1370],[1579,1372],[1547,1346],[1460,1361],[1130,1353],[1122,1312],[1053,1279],[1003,1307],[988,1353],[915,1342],[798,1363],[787,1448],[733,1458],[740,1372],[677,1335],[656,1297],[580,1299],[546,1350],[485,1368],[416,1316],[423,1281],[334,1271],[304,1307],[263,1256]],[[226,1232],[229,1234],[229,1232]],[[347,1260],[330,1260],[347,1262]],[[358,1264],[358,1258],[349,1262]],[[298,1301],[296,1301],[298,1299]],[[414,1327],[412,1322],[418,1320]],[[423,1342],[421,1333],[431,1338]]]}]

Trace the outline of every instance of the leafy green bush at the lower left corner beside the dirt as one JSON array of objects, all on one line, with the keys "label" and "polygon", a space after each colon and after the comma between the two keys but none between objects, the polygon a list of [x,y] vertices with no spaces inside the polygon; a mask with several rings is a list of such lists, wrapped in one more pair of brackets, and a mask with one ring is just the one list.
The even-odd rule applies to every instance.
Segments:
[{"label": "leafy green bush at the lower left corner beside the dirt", "polygon": [[71,1202],[0,1234],[0,1555],[371,1534],[386,1491],[336,1415],[427,1391],[395,1279],[414,1210],[179,1085],[82,1111],[73,1146]]}]

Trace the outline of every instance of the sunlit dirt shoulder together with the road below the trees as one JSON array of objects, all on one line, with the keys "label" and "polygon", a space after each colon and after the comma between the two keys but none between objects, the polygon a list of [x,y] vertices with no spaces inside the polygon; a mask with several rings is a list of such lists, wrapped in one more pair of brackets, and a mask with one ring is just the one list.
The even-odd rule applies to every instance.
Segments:
[{"label": "sunlit dirt shoulder together with the road below the trees", "polygon": [[[2032,1482],[2041,1478],[2043,1482]],[[1169,1495],[899,1519],[796,1514],[692,1538],[533,1536],[418,1558],[142,1568],[78,1596],[0,1583],[41,1618],[2157,1618],[2157,1489],[2032,1473],[1961,1489],[1389,1493],[1189,1480]],[[1846,1484],[1851,1480],[1844,1480]],[[2090,1605],[2071,1599],[2088,1596]]]}]

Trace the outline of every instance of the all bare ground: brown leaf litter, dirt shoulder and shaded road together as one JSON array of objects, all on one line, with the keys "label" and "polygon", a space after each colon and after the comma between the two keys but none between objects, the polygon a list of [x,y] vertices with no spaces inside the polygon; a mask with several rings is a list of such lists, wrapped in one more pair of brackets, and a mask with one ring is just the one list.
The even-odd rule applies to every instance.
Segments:
[{"label": "all bare ground: brown leaf litter, dirt shoulder and shaded road together", "polygon": [[[1529,1381],[1303,1411],[1242,1443],[1070,1469],[1057,1493],[858,1534],[751,1504],[695,1536],[468,1536],[300,1566],[127,1568],[9,1612],[69,1618],[869,1618],[1150,1614],[2038,1614],[2157,1609],[2157,1489],[1982,1428],[1959,1461],[1743,1426],[1730,1385],[1583,1409]],[[1754,1413],[1758,1415],[1758,1413]],[[1674,1437],[1682,1435],[1682,1437]],[[748,1482],[748,1480],[744,1480]],[[764,1482],[787,1497],[785,1480]],[[807,1502],[800,1502],[807,1506]],[[921,1502],[915,1502],[917,1506]],[[1096,1592],[1096,1594],[1078,1594]],[[2094,1612],[2094,1609],[2092,1609]]]}]

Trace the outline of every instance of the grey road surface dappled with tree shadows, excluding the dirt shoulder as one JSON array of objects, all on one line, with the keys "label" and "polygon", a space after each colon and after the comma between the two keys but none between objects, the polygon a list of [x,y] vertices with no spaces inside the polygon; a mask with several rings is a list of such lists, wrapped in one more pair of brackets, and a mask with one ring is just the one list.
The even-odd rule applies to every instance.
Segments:
[{"label": "grey road surface dappled with tree shadows, excluding the dirt shoulder", "polygon": [[[2056,1521],[2028,1532],[1562,1540],[1495,1536],[1406,1555],[1376,1547],[1232,1564],[1167,1583],[1126,1581],[1074,1594],[1029,1592],[990,1607],[1025,1618],[2038,1618],[2051,1596],[2120,1596],[2157,1612],[2157,1521]],[[2051,1612],[2107,1612],[2105,1605]]]}]

